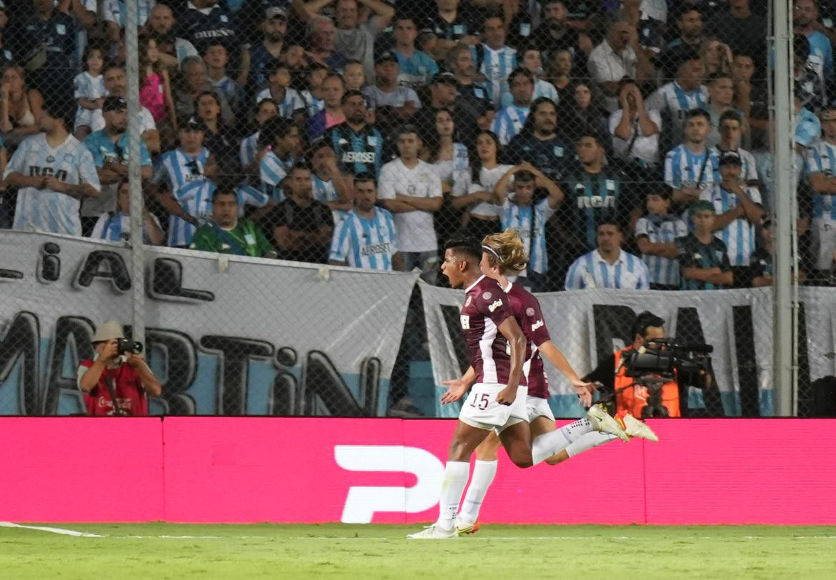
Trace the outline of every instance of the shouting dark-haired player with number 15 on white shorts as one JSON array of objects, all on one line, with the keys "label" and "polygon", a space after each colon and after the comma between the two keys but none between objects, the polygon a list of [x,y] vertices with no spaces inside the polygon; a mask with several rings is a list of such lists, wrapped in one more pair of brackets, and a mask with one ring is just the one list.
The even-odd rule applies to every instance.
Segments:
[{"label": "shouting dark-haired player with number 15 on white shorts", "polygon": [[502,287],[482,274],[482,247],[473,238],[453,238],[445,245],[443,272],[452,287],[464,287],[461,329],[470,354],[475,384],[462,405],[441,485],[440,513],[436,523],[415,539],[456,537],[454,521],[461,492],[470,475],[470,456],[491,430],[496,429],[508,457],[518,467],[536,465],[593,430],[627,435],[604,412],[589,413],[574,430],[553,431],[531,439],[525,409],[528,387],[523,378],[526,340],[514,318]]}]

